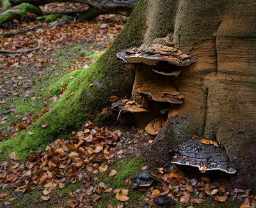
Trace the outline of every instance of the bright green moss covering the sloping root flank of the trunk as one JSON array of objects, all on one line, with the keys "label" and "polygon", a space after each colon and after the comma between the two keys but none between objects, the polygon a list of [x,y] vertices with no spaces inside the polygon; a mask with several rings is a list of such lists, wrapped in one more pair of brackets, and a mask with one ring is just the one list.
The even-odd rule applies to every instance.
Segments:
[{"label": "bright green moss covering the sloping root flank of the trunk", "polygon": [[[0,149],[19,152],[18,155],[24,158],[29,151],[44,149],[54,139],[65,138],[73,130],[81,128],[88,119],[87,114],[97,115],[102,108],[111,104],[109,96],[117,94],[122,98],[131,93],[134,71],[116,57],[116,52],[132,45],[140,45],[143,40],[146,4],[145,1],[139,1],[137,5],[112,47],[90,69],[81,70],[68,84],[63,96],[53,103],[52,110],[33,124],[29,131],[34,134],[17,138],[15,142],[19,142],[19,145],[3,142]],[[49,125],[42,128],[41,125],[45,122]]]}]

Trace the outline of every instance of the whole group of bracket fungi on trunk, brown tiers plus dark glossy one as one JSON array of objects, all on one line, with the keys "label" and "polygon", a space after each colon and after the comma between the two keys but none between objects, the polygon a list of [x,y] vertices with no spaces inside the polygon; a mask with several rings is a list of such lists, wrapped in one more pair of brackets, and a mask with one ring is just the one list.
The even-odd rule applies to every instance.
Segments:
[{"label": "whole group of bracket fungi on trunk, brown tiers plus dark glossy one", "polygon": [[[152,44],[128,48],[116,54],[126,63],[143,63],[142,66],[140,65],[141,69],[136,71],[137,79],[135,78],[133,87],[133,93],[140,94],[142,101],[136,103],[133,100],[123,99],[113,103],[113,108],[119,111],[118,118],[122,112],[150,112],[148,100],[171,103],[171,106],[184,102],[184,96],[177,91],[172,80],[179,77],[182,66],[189,66],[197,60],[175,48],[169,40],[170,36],[157,38]],[[170,108],[160,110],[161,114],[168,114],[169,111]],[[163,117],[157,117],[145,126],[145,131],[150,135],[157,135],[165,122]],[[220,170],[228,174],[236,173],[236,170],[228,165],[223,149],[201,144],[198,140],[188,140],[180,144],[172,163],[198,167],[200,170],[204,168],[204,171]]]}]

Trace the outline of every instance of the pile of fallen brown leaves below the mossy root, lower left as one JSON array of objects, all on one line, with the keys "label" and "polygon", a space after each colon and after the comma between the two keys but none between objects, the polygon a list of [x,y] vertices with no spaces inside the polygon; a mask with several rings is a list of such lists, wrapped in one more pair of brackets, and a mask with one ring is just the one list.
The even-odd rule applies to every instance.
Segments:
[{"label": "pile of fallen brown leaves below the mossy root, lower left", "polygon": [[[88,122],[84,125],[84,131],[77,132],[69,140],[56,140],[47,146],[47,152],[30,154],[26,163],[20,163],[20,158],[12,152],[9,155],[10,161],[1,163],[0,188],[12,187],[24,193],[31,185],[42,185],[45,189],[41,198],[49,200],[53,189],[64,188],[68,182],[79,180],[84,182],[84,188],[76,190],[79,197],[69,201],[68,205],[75,207],[78,204],[94,204],[107,186],[103,183],[93,185],[93,174],[105,172],[108,169],[106,164],[120,158],[123,153],[120,151],[121,134],[118,130],[104,130]],[[115,174],[116,171],[112,170],[109,176]],[[127,198],[123,193],[120,196],[120,199]],[[4,193],[0,197],[5,197]]]}]

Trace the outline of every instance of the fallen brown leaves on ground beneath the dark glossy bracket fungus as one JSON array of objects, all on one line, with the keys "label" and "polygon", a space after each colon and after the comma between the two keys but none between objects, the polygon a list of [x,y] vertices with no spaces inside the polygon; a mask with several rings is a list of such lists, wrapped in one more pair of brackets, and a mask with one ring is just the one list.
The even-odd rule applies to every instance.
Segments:
[{"label": "fallen brown leaves on ground beneath the dark glossy bracket fungus", "polygon": [[191,205],[204,204],[205,198],[216,202],[226,202],[228,198],[237,199],[243,202],[241,207],[255,207],[256,195],[252,195],[250,190],[234,189],[228,192],[225,186],[215,186],[209,177],[202,177],[199,180],[189,179],[182,172],[175,169],[172,172],[164,172],[163,168],[158,168],[154,175],[161,179],[157,186],[146,191],[145,201],[149,205],[155,205],[153,199],[156,197],[170,197],[173,202]]}]

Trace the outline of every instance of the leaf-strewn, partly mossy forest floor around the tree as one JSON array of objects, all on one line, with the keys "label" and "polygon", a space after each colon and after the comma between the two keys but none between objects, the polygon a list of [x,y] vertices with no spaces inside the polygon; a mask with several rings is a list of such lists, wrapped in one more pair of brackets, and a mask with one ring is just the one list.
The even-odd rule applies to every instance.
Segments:
[{"label": "leaf-strewn, partly mossy forest floor around the tree", "polygon": [[[49,4],[43,9],[49,11],[56,5],[55,9],[81,6]],[[90,22],[48,29],[51,23],[30,17],[0,29],[1,36],[44,24],[41,29],[0,40],[1,50],[10,52],[40,47],[28,53],[0,54],[0,142],[26,131],[47,112],[79,70],[90,70],[126,20],[102,15]],[[131,179],[148,170],[141,153],[153,139],[132,126],[99,128],[87,121],[70,138],[30,152],[25,161],[12,152],[8,161],[1,162],[0,207],[157,207],[161,203],[156,198],[171,198],[172,207],[240,207],[246,198],[250,200],[248,190],[230,191],[209,174],[193,170],[198,175],[192,177],[175,166],[151,170],[154,186],[132,188]]]}]

